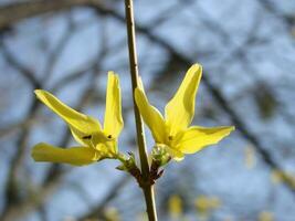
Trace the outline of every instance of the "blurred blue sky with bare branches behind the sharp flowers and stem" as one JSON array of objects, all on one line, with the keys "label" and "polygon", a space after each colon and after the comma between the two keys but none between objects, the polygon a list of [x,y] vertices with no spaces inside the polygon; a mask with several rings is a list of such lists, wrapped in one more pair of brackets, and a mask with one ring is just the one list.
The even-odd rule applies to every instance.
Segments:
[{"label": "blurred blue sky with bare branches behind the sharp flowers and stem", "polygon": [[[124,1],[0,2],[0,220],[144,220],[140,189],[118,162],[30,157],[40,141],[75,144],[33,90],[102,122],[109,70],[123,91],[119,148],[136,148]],[[159,220],[295,220],[295,1],[136,0],[135,15],[150,102],[162,110],[198,62],[193,124],[236,127],[168,165],[156,187]]]}]

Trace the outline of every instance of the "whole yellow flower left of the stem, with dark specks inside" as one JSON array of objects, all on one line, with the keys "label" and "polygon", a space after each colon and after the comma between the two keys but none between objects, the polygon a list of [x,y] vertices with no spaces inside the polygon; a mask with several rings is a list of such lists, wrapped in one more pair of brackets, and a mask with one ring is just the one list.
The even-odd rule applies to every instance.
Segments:
[{"label": "whole yellow flower left of the stem, with dark specks inside", "polygon": [[104,128],[97,119],[72,109],[49,92],[36,90],[35,95],[69,125],[73,137],[80,144],[77,147],[64,149],[40,143],[32,149],[35,161],[83,166],[115,157],[118,151],[117,138],[124,126],[117,74],[108,72]]}]

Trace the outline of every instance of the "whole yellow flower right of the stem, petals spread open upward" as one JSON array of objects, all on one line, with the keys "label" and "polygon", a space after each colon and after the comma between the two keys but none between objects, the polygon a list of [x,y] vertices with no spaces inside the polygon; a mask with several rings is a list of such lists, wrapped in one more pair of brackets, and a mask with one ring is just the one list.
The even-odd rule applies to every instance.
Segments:
[{"label": "whole yellow flower right of the stem, petals spread open upward", "polygon": [[208,145],[219,143],[234,127],[200,127],[189,125],[194,115],[194,97],[202,75],[199,64],[192,65],[176,95],[165,107],[165,118],[149,104],[140,82],[135,90],[139,112],[151,130],[156,145],[165,148],[172,158],[181,160],[185,154],[194,154]]}]

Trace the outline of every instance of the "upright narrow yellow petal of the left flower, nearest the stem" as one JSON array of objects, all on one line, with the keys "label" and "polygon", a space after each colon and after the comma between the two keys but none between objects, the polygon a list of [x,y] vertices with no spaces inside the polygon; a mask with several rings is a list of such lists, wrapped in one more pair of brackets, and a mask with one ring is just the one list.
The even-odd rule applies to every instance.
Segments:
[{"label": "upright narrow yellow petal of the left flower, nearest the stem", "polygon": [[107,136],[117,138],[123,127],[119,78],[108,72],[104,130]]}]

